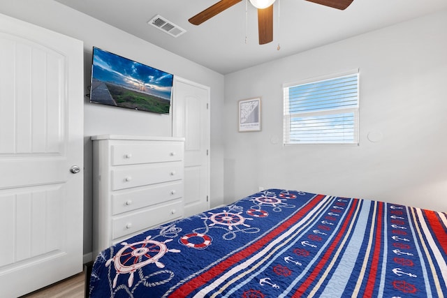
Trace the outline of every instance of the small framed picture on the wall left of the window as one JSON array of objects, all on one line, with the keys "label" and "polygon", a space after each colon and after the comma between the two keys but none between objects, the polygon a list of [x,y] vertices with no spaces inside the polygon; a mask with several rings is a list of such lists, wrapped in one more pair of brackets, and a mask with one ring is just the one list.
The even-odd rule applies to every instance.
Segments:
[{"label": "small framed picture on the wall left of the window", "polygon": [[261,98],[239,100],[239,131],[261,131]]}]

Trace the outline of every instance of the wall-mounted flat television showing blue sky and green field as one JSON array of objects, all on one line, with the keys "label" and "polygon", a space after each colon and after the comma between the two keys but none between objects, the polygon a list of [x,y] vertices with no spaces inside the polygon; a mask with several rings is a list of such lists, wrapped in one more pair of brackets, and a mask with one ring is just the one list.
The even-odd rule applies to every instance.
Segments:
[{"label": "wall-mounted flat television showing blue sky and green field", "polygon": [[169,114],[173,75],[93,47],[90,103]]}]

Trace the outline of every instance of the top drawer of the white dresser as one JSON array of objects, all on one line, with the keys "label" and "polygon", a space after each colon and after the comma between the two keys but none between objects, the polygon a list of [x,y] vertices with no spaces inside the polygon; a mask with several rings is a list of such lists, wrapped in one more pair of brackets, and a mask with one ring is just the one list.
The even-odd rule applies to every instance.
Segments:
[{"label": "top drawer of the white dresser", "polygon": [[183,143],[157,142],[155,144],[114,144],[112,165],[136,165],[182,161]]}]

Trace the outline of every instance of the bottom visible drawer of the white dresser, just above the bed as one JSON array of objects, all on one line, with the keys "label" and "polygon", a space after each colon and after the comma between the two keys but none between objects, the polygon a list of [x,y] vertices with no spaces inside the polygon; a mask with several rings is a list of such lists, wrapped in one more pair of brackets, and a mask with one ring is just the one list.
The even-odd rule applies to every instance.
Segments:
[{"label": "bottom visible drawer of the white dresser, just above the bed", "polygon": [[158,207],[131,212],[112,219],[112,239],[126,236],[183,216],[183,202],[177,200]]}]

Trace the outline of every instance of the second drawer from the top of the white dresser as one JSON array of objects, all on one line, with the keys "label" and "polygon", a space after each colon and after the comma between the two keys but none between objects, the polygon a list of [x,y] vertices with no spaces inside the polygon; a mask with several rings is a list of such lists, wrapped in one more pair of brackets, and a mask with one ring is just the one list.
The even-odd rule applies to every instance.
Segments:
[{"label": "second drawer from the top of the white dresser", "polygon": [[183,179],[183,163],[152,163],[112,170],[112,191]]}]

